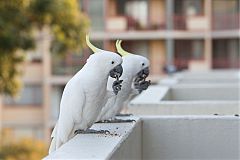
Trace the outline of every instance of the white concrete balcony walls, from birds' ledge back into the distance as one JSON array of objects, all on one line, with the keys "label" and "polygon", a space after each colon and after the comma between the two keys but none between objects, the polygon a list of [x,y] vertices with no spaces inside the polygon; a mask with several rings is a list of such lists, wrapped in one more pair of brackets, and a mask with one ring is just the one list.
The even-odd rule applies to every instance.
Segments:
[{"label": "white concrete balcony walls, from birds' ledge back into the distance", "polygon": [[[97,123],[48,159],[239,159],[239,71],[183,72],[130,102],[131,123]],[[214,82],[215,81],[215,82]]]}]

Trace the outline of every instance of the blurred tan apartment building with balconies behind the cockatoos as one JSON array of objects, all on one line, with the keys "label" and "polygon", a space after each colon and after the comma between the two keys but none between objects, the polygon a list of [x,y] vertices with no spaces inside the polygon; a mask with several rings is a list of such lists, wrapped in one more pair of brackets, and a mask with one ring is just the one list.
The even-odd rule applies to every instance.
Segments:
[{"label": "blurred tan apartment building with balconies behind the cockatoos", "polygon": [[[177,69],[239,68],[238,0],[80,0],[91,19],[90,36],[99,48],[123,48],[151,61],[151,74]],[[53,55],[48,33],[28,53],[18,99],[3,97],[2,128],[13,137],[50,140],[66,82],[90,54]]]}]

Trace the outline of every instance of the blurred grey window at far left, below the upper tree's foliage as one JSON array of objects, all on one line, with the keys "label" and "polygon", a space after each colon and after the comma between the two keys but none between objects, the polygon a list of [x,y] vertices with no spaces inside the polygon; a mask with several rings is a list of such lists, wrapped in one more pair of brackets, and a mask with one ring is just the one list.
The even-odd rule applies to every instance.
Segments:
[{"label": "blurred grey window at far left, below the upper tree's foliage", "polygon": [[43,102],[42,86],[38,84],[26,84],[23,86],[19,97],[4,97],[5,105],[41,105]]}]

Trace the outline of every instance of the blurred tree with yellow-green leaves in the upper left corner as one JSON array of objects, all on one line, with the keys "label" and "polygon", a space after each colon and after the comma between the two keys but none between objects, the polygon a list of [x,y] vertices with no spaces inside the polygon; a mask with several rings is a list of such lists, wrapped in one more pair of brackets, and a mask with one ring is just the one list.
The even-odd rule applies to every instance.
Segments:
[{"label": "blurred tree with yellow-green leaves in the upper left corner", "polygon": [[82,48],[88,20],[77,0],[0,1],[0,94],[18,93],[24,51],[34,47],[34,32],[46,26],[51,52],[64,54]]}]

